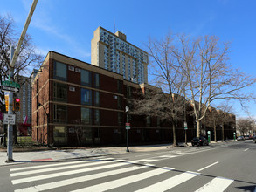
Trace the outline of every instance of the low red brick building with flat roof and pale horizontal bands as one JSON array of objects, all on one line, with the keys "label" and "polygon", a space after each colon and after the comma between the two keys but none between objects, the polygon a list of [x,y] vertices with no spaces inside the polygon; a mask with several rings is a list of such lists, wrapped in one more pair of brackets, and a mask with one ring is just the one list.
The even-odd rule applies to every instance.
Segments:
[{"label": "low red brick building with flat roof and pale horizontal bands", "polygon": [[[147,86],[49,51],[32,82],[32,139],[55,146],[125,144],[125,106],[134,91]],[[132,116],[128,121],[130,143],[172,141],[170,126],[157,118]],[[188,127],[190,140],[196,133],[193,120]],[[182,125],[176,137],[183,140]]]}]

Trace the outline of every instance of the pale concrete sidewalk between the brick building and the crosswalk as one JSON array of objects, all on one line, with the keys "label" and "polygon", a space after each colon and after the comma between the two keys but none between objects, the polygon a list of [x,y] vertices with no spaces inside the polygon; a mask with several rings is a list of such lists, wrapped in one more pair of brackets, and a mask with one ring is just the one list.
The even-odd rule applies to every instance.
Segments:
[{"label": "pale concrete sidewalk between the brick building and the crosswalk", "polygon": [[149,152],[167,150],[171,147],[170,144],[147,145],[129,147],[129,152],[126,152],[127,147],[100,147],[88,149],[64,149],[64,150],[44,150],[32,152],[13,152],[12,157],[15,162],[6,163],[7,153],[0,152],[0,166],[36,162],[36,161],[60,161],[75,158],[98,157],[110,154],[126,154],[133,152]]}]

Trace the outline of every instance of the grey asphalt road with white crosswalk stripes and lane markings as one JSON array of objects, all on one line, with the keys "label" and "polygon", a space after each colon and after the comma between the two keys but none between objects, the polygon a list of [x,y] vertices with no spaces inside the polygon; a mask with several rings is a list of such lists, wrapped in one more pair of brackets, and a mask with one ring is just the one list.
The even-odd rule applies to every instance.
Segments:
[{"label": "grey asphalt road with white crosswalk stripes and lane markings", "polygon": [[253,191],[256,144],[204,147],[24,163],[0,168],[0,191]]}]

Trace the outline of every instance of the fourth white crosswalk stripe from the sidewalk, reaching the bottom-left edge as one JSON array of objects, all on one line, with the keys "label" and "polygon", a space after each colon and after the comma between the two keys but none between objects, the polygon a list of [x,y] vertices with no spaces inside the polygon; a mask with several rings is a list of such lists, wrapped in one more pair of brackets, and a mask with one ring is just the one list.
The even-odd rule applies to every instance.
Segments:
[{"label": "fourth white crosswalk stripe from the sidewalk, reaching the bottom-left edge", "polygon": [[76,184],[79,182],[87,182],[87,181],[90,181],[93,179],[99,179],[99,178],[110,176],[110,175],[128,173],[129,171],[139,170],[142,168],[147,168],[147,167],[146,166],[143,166],[143,167],[133,166],[130,168],[121,168],[121,169],[107,171],[107,172],[103,172],[103,173],[99,173],[99,174],[86,175],[86,176],[75,177],[72,179],[66,179],[66,180],[59,181],[59,182],[45,183],[45,184],[30,187],[30,188],[17,189],[17,190],[15,190],[15,192],[37,192],[37,191],[44,191],[44,190],[49,190],[49,189],[56,189],[59,187],[64,187],[64,186]]}]

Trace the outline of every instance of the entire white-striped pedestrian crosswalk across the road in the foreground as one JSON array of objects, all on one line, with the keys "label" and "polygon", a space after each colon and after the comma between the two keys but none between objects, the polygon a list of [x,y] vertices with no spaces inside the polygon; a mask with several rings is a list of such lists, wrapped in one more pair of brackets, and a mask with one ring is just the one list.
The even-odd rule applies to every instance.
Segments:
[{"label": "entire white-striped pedestrian crosswalk across the road in the foreground", "polygon": [[[162,158],[164,157],[162,156]],[[171,155],[166,157],[171,158]],[[179,185],[183,186],[186,185],[186,182],[190,180],[192,182],[194,178],[201,175],[191,171],[177,171],[175,168],[158,168],[153,164],[143,164],[142,161],[152,162],[147,159],[124,161],[113,158],[59,162],[10,168],[10,178],[15,192],[55,191],[57,189],[58,191],[63,189],[63,191],[73,190],[75,192],[98,192],[111,189],[118,191],[133,186],[135,182],[144,184],[141,187],[136,184],[133,191],[150,192],[166,191]],[[156,182],[152,182],[155,179]],[[145,183],[148,181],[151,182],[147,186]],[[232,182],[231,179],[216,177],[211,181],[205,181],[204,184],[196,186],[197,188],[194,189],[197,189],[197,192],[224,191]]]}]

